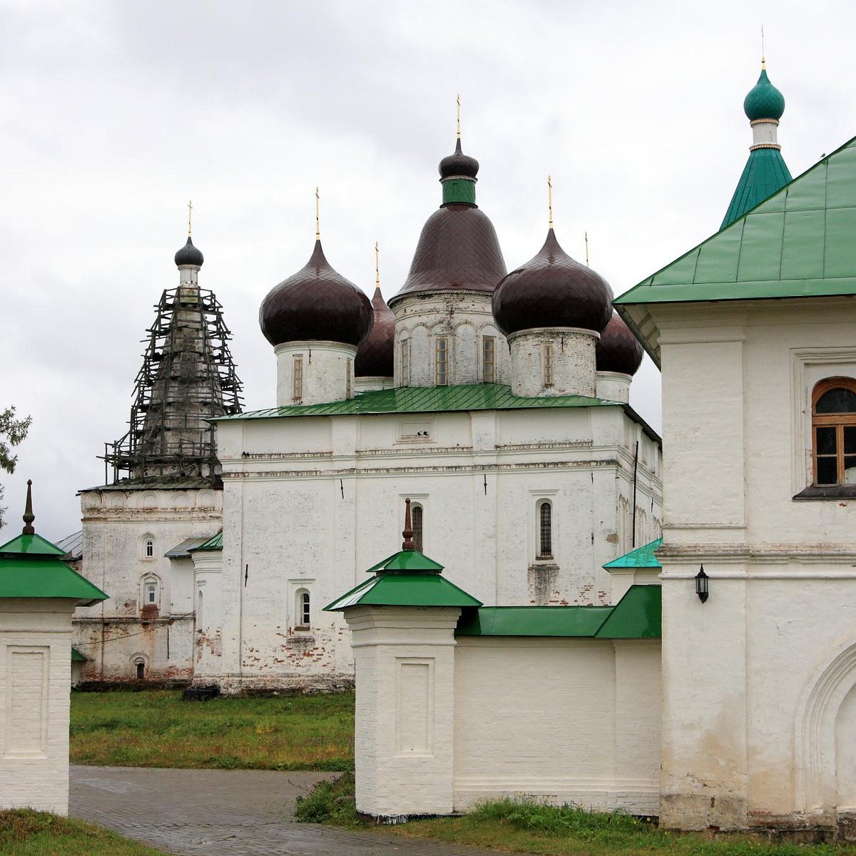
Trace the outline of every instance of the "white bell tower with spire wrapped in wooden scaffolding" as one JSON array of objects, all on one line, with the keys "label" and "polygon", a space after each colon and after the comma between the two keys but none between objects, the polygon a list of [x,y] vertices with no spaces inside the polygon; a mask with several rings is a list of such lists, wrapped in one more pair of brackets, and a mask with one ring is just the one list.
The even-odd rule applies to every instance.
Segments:
[{"label": "white bell tower with spire wrapped in wooden scaffolding", "polygon": [[74,615],[84,681],[193,675],[202,596],[190,550],[223,528],[209,420],[241,412],[223,307],[199,288],[204,260],[188,212],[187,243],[175,253],[178,286],[163,291],[143,340],[128,431],[105,446],[104,484],[80,491],[81,571],[110,595]]}]

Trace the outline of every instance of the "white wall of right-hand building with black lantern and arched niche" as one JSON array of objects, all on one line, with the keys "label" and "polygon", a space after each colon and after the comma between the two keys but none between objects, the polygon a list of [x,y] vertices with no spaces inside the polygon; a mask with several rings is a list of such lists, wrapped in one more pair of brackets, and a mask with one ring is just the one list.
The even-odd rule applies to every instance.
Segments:
[{"label": "white wall of right-hand building with black lantern and arched niche", "polygon": [[856,500],[793,497],[811,484],[812,388],[856,377],[856,309],[661,311],[661,817],[832,826],[856,805]]}]

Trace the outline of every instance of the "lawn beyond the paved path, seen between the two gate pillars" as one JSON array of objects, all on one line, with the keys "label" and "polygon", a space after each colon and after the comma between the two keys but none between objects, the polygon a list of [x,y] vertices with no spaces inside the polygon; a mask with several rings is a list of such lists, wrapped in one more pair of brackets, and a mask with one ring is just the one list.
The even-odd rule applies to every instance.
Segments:
[{"label": "lawn beyond the paved path, seen between the two gate pillars", "polygon": [[72,693],[72,764],[353,770],[354,693],[181,701],[172,690]]}]

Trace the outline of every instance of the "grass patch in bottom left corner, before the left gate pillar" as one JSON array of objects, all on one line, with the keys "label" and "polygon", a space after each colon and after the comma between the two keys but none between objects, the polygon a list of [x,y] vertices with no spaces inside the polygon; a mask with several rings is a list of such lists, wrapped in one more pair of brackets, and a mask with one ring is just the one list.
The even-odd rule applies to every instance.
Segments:
[{"label": "grass patch in bottom left corner, before the left gate pillar", "polygon": [[163,856],[160,850],[46,811],[0,811],[0,854],[15,856]]}]

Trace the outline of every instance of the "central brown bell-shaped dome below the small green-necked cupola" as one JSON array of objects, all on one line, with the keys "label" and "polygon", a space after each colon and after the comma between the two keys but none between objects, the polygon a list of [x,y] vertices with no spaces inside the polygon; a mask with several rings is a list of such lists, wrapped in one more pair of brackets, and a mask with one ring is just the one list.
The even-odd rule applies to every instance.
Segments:
[{"label": "central brown bell-shaped dome below the small green-necked cupola", "polygon": [[449,288],[490,294],[505,273],[496,229],[487,215],[474,205],[449,203],[428,217],[410,273],[389,303]]}]

